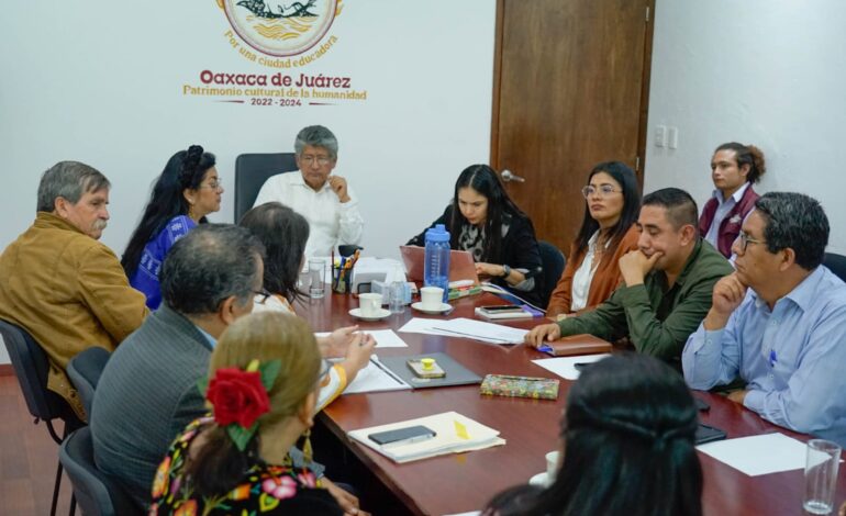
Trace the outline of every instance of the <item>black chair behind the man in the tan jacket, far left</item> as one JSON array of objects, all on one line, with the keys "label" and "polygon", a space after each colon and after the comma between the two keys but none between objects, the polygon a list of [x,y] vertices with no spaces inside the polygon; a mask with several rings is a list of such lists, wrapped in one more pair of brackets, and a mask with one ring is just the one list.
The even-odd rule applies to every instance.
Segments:
[{"label": "black chair behind the man in the tan jacket, far left", "polygon": [[[43,420],[47,426],[51,437],[56,444],[60,445],[67,436],[75,429],[85,424],[74,413],[70,405],[47,389],[47,375],[49,373],[49,362],[47,355],[35,343],[35,339],[20,326],[0,321],[0,335],[3,336],[5,349],[9,351],[9,358],[12,361],[14,374],[18,377],[18,383],[21,385],[23,399],[26,401],[26,408],[35,417],[35,424]],[[53,427],[54,419],[65,422],[65,429],[59,437]],[[56,482],[53,486],[53,503],[49,514],[55,516],[56,505],[58,504],[58,493],[62,489],[62,462],[56,468]],[[70,514],[74,514],[76,506],[75,498],[70,500]]]}]

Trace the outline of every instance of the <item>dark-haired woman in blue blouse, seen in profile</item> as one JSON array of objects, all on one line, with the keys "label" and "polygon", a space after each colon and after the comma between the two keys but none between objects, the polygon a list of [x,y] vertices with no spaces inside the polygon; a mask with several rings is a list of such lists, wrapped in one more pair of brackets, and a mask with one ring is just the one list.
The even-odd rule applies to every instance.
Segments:
[{"label": "dark-haired woman in blue blouse, seen in profile", "polygon": [[221,209],[223,187],[214,162],[214,155],[199,145],[172,155],[130,237],[121,265],[130,284],[147,296],[151,310],[162,303],[158,270],[167,251],[197,224],[207,222],[205,215]]}]

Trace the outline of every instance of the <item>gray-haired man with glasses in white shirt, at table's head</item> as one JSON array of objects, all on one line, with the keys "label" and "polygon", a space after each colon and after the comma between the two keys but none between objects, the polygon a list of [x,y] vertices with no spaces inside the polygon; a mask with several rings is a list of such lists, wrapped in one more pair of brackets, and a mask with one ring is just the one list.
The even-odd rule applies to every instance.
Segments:
[{"label": "gray-haired man with glasses in white shirt, at table's head", "polygon": [[309,221],[305,256],[329,256],[339,244],[359,244],[364,218],[346,179],[330,176],[337,164],[337,138],[322,125],[311,125],[293,143],[300,173],[278,173],[261,186],[254,206],[277,201]]}]

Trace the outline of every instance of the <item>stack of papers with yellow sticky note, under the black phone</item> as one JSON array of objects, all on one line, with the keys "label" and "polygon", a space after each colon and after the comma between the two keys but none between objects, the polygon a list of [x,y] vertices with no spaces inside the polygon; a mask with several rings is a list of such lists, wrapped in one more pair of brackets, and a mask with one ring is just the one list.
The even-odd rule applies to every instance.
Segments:
[{"label": "stack of papers with yellow sticky note, under the black phone", "polygon": [[[396,430],[410,426],[423,425],[435,431],[428,440],[411,444],[377,445],[367,436],[379,431]],[[410,462],[447,453],[481,450],[505,444],[499,431],[465,417],[457,412],[445,412],[433,416],[420,417],[389,425],[374,426],[353,430],[349,437],[368,446],[396,462]]]}]

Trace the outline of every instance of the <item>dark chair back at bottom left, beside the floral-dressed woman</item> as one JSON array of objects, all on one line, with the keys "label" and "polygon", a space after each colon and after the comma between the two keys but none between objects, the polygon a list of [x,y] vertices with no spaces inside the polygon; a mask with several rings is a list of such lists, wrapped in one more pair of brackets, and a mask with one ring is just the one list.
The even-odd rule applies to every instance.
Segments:
[{"label": "dark chair back at bottom left, beside the floral-dressed woman", "polygon": [[141,515],[141,508],[111,478],[97,469],[91,429],[87,426],[70,434],[58,451],[74,485],[79,508],[86,516]]}]

